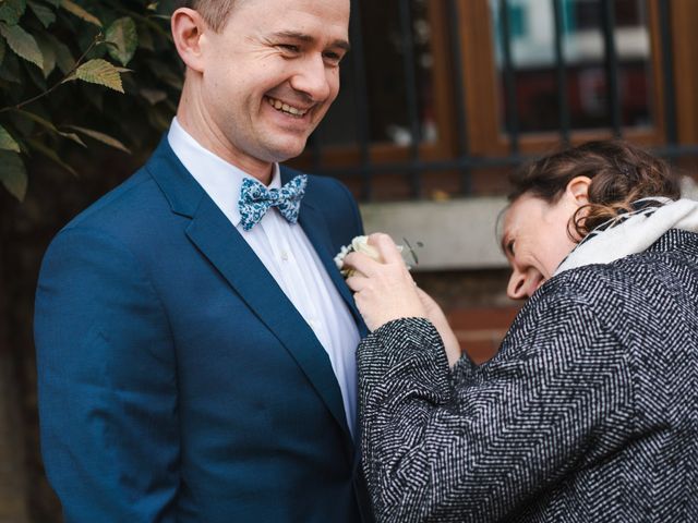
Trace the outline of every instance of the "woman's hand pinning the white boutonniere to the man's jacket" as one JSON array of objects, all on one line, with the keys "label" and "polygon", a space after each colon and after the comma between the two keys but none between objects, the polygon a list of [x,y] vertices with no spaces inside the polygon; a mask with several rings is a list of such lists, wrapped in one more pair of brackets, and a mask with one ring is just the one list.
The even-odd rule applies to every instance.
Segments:
[{"label": "woman's hand pinning the white boutonniere to the man's jacket", "polygon": [[345,267],[354,269],[347,284],[354,292],[357,307],[369,330],[399,318],[425,318],[426,312],[402,256],[387,234],[371,234],[369,244],[377,248],[383,263],[361,253],[350,253]]}]

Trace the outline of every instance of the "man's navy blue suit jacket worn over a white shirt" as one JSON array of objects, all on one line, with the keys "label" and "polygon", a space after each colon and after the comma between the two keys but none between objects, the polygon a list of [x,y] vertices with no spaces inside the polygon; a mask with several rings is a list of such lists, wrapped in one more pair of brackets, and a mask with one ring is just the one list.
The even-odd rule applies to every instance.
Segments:
[{"label": "man's navy blue suit jacket worn over a white shirt", "polygon": [[[333,264],[362,233],[349,192],[310,177],[299,222],[360,323]],[[53,240],[35,314],[67,521],[369,518],[326,352],[167,138]]]}]

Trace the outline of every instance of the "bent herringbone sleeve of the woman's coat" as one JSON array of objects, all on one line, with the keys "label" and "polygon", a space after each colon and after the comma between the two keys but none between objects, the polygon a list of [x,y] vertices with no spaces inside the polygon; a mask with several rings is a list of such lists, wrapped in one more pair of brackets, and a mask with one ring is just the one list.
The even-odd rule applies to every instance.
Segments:
[{"label": "bent herringbone sleeve of the woman's coat", "polygon": [[392,321],[361,343],[363,464],[377,521],[498,521],[583,466],[597,436],[622,445],[631,401],[617,340],[583,306],[554,317],[519,326],[492,362],[461,362],[457,374],[425,319]]}]

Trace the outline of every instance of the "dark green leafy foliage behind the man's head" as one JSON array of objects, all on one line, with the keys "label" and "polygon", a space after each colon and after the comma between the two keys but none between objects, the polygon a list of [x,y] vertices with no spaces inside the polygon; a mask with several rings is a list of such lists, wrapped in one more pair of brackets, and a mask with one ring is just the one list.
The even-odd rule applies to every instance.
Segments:
[{"label": "dark green leafy foliage behind the man's head", "polygon": [[0,0],[0,182],[13,196],[34,158],[79,177],[87,146],[130,154],[167,129],[182,83],[171,3]]}]

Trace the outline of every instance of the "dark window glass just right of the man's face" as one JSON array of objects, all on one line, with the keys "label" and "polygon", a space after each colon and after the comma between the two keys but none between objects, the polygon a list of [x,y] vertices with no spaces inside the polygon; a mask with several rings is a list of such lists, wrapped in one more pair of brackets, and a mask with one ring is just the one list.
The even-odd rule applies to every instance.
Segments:
[{"label": "dark window glass just right of the man's face", "polygon": [[[362,47],[366,51],[365,101],[371,108],[380,108],[368,114],[369,142],[402,147],[413,141],[436,142],[432,24],[426,0],[363,0],[360,5]],[[321,139],[327,145],[356,143],[360,134],[356,95],[361,78],[357,68],[345,66],[341,71],[342,85],[349,88],[341,90],[333,110],[336,114],[321,130]],[[408,83],[412,84],[410,88],[406,88]]]}]

